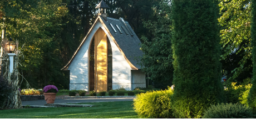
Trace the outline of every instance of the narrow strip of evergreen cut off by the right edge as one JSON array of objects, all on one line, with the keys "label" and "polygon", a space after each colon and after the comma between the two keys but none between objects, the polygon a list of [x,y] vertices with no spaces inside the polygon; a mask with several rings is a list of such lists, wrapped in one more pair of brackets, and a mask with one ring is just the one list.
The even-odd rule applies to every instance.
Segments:
[{"label": "narrow strip of evergreen cut off by the right edge", "polygon": [[248,95],[248,105],[252,107],[254,111],[256,111],[256,1],[252,0],[252,27],[251,27],[251,35],[252,35],[252,61],[253,61],[253,80],[252,80],[252,87],[250,88],[249,95]]}]

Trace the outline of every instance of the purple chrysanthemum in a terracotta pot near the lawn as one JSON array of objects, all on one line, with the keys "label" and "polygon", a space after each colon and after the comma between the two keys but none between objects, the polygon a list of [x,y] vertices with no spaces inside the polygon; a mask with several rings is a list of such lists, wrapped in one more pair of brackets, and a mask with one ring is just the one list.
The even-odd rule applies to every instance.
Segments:
[{"label": "purple chrysanthemum in a terracotta pot near the lawn", "polygon": [[58,89],[54,85],[47,85],[43,87],[43,95],[45,95],[47,104],[54,104],[57,92]]}]

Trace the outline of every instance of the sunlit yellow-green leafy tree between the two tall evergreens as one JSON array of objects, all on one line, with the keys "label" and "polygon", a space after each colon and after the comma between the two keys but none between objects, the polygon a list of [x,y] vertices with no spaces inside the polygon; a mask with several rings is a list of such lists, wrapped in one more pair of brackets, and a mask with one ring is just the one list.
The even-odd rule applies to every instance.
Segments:
[{"label": "sunlit yellow-green leafy tree between the two tall evergreens", "polygon": [[220,44],[223,73],[229,82],[252,77],[251,0],[220,0]]}]

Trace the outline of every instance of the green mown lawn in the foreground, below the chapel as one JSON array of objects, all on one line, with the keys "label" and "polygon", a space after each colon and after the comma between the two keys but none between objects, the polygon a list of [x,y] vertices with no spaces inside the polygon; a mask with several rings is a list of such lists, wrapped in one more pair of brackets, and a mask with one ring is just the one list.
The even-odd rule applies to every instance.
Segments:
[{"label": "green mown lawn in the foreground, below the chapel", "polygon": [[133,101],[86,103],[93,107],[49,107],[0,110],[0,118],[139,118]]}]

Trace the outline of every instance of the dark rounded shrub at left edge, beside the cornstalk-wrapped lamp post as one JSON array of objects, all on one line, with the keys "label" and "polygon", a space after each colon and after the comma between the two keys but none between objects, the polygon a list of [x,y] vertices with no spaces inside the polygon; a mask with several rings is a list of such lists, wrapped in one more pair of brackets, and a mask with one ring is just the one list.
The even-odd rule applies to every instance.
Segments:
[{"label": "dark rounded shrub at left edge, beside the cornstalk-wrapped lamp post", "polygon": [[6,79],[0,76],[0,108],[4,106],[4,102],[8,99],[9,93],[12,92],[12,86],[8,84]]}]

